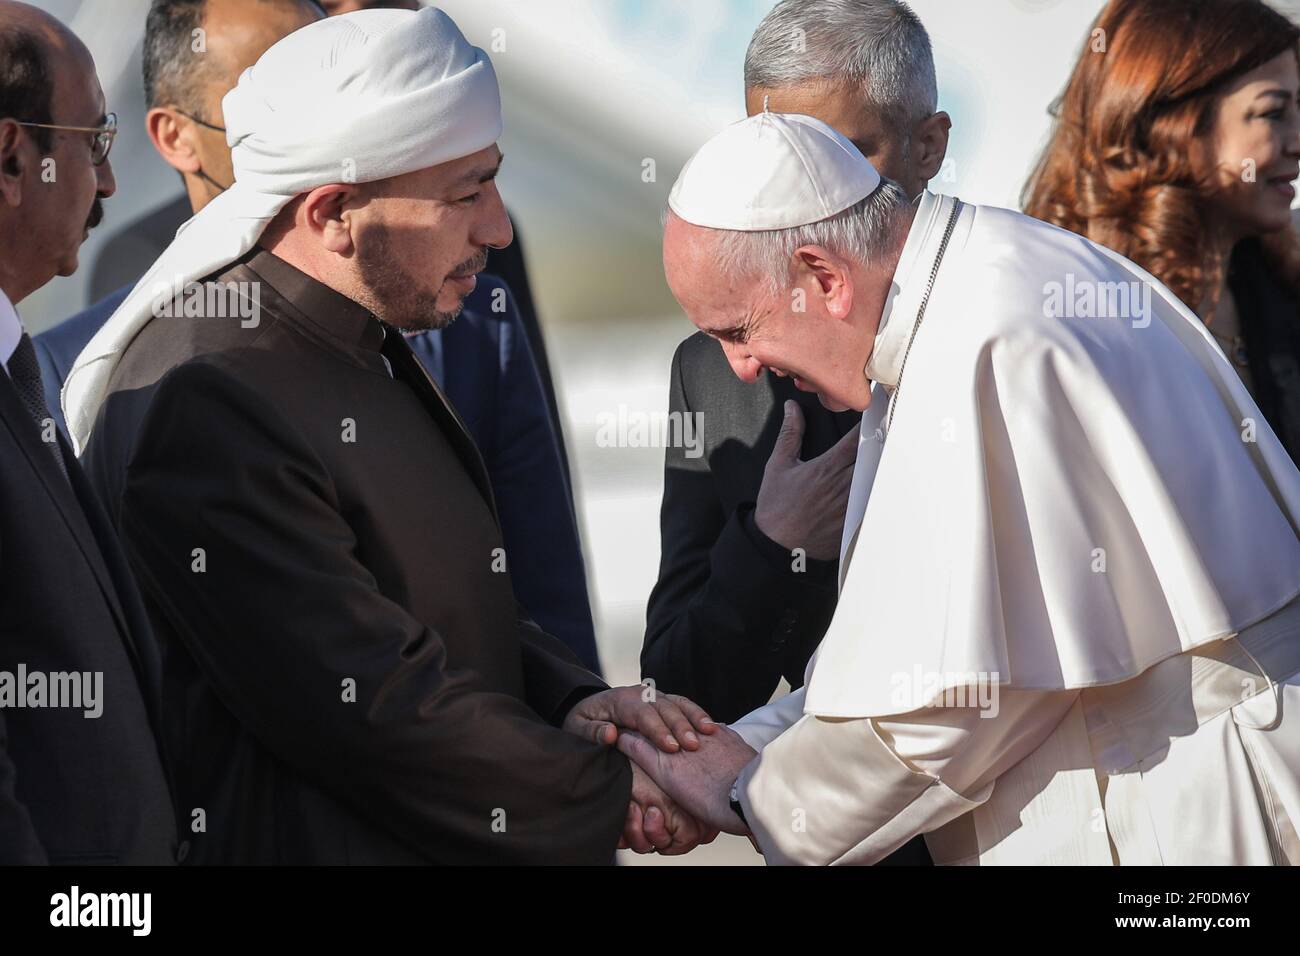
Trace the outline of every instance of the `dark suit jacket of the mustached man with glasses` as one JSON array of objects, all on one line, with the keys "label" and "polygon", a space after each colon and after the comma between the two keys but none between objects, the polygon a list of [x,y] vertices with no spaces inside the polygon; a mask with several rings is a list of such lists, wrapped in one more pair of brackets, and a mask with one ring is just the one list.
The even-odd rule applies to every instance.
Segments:
[{"label": "dark suit jacket of the mustached man with glasses", "polygon": [[108,520],[61,445],[70,484],[0,368],[0,671],[103,675],[99,717],[0,697],[0,864],[176,862],[155,735],[157,648]]}]

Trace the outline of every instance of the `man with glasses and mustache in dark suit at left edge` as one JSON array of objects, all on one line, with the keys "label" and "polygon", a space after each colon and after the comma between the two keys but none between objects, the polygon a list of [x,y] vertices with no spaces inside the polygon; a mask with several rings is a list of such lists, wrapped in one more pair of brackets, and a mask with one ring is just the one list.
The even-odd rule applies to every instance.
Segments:
[{"label": "man with glasses and mustache in dark suit at left edge", "polygon": [[178,856],[157,649],[14,311],[72,274],[113,194],[105,125],[86,47],[0,3],[0,864]]}]

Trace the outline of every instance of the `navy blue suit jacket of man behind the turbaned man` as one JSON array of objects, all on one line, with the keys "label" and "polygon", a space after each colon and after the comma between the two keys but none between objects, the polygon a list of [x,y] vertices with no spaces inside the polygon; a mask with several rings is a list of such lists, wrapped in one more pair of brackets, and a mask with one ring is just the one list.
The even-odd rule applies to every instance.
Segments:
[{"label": "navy blue suit jacket of man behind the turbaned man", "polygon": [[[58,393],[68,372],[133,285],[35,337],[46,405],[60,428]],[[504,311],[498,311],[500,306]],[[499,278],[480,276],[456,321],[407,341],[451,399],[488,464],[515,593],[547,633],[599,674],[564,451],[510,289]]]}]

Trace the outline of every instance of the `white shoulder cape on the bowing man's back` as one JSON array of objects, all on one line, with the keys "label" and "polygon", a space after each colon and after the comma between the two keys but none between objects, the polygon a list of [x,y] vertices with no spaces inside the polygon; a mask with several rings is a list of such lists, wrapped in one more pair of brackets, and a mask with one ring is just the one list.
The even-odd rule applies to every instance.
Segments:
[{"label": "white shoulder cape on the bowing man's back", "polygon": [[[880,384],[952,204],[922,200]],[[1121,682],[1300,593],[1300,472],[1204,324],[1122,256],[966,206],[905,371],[884,442],[880,384],[863,416],[807,713]]]}]

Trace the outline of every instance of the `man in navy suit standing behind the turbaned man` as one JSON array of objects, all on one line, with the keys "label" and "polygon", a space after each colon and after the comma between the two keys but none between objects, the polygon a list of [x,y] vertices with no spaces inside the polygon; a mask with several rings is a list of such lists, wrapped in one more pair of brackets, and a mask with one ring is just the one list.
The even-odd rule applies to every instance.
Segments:
[{"label": "man in navy suit standing behind the turbaned man", "polygon": [[[114,291],[36,337],[51,408],[58,408],[58,392],[73,362],[177,228],[230,183],[234,174],[221,129],[221,98],[268,47],[320,16],[311,0],[153,3],[144,35],[146,122],[159,155],[181,173],[187,202],[151,213],[126,230],[124,242],[110,243],[101,259],[112,263]],[[200,27],[209,47],[204,57],[190,49],[192,33]],[[516,246],[493,250],[491,264],[512,269],[526,293],[523,263],[515,264]],[[98,263],[96,268],[108,267]],[[517,289],[485,276],[455,325],[413,333],[410,342],[484,455],[516,594],[534,620],[599,672],[559,419],[534,362],[540,354],[530,347],[526,313],[514,294]],[[61,420],[58,411],[56,416]]]}]

